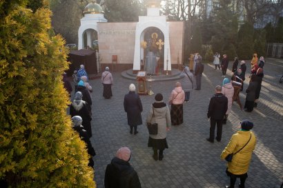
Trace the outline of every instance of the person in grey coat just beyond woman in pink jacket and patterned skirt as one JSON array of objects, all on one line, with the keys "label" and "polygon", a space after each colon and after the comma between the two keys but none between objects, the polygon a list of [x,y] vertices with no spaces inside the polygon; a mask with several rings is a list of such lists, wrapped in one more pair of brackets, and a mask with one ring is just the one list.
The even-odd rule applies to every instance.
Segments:
[{"label": "person in grey coat just beyond woman in pink jacket and patterned skirt", "polygon": [[184,71],[180,74],[179,78],[185,92],[185,102],[190,99],[190,92],[193,90],[193,73],[188,70],[188,67],[184,67]]}]

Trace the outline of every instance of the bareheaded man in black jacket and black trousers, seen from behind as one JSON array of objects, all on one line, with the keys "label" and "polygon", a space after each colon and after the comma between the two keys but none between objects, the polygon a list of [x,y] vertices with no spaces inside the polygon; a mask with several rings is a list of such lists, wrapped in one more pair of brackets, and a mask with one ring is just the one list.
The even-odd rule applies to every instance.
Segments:
[{"label": "bareheaded man in black jacket and black trousers, seen from behind", "polygon": [[216,140],[221,141],[222,138],[222,121],[227,112],[228,108],[228,98],[222,94],[222,87],[217,85],[215,87],[216,94],[211,97],[211,101],[208,105],[207,118],[211,118],[211,129],[209,138],[206,138],[208,142],[214,143],[214,132],[215,125],[217,124],[217,136]]}]

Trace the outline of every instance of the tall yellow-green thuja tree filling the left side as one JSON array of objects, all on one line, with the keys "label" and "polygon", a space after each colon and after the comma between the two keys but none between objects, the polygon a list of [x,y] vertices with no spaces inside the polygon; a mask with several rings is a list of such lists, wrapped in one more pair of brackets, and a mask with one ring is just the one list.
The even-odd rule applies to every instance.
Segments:
[{"label": "tall yellow-green thuja tree filling the left side", "polygon": [[0,180],[9,187],[95,187],[84,143],[66,114],[61,36],[50,10],[0,1]]}]

